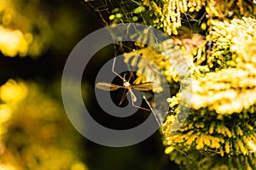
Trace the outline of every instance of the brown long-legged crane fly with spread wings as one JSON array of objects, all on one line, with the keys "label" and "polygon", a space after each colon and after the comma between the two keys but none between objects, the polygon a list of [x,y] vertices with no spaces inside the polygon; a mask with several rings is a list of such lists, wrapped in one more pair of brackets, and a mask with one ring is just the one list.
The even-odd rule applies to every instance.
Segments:
[{"label": "brown long-legged crane fly with spread wings", "polygon": [[140,107],[138,105],[135,105],[134,103],[137,101],[137,97],[136,95],[132,92],[132,88],[138,90],[138,91],[148,91],[148,90],[152,90],[153,88],[153,82],[143,82],[143,83],[140,83],[140,84],[131,84],[130,83],[130,79],[131,77],[129,78],[129,80],[127,81],[125,79],[125,76],[124,77],[121,77],[117,72],[115,72],[113,70],[114,68],[114,65],[115,65],[115,58],[113,59],[113,67],[112,67],[112,72],[113,74],[115,74],[116,76],[118,76],[119,78],[121,78],[123,80],[123,86],[119,86],[117,84],[112,84],[112,83],[109,83],[109,82],[97,82],[96,83],[96,88],[99,88],[99,89],[102,89],[102,90],[105,90],[105,91],[115,91],[119,88],[125,88],[128,90],[128,92],[125,94],[122,95],[122,98],[119,102],[119,105],[121,105],[121,103],[123,102],[123,100],[125,99],[125,97],[127,96],[127,94],[130,94],[131,95],[131,103],[134,107],[137,107],[137,108],[140,108],[140,109],[143,109],[145,111],[151,111],[151,110],[148,110],[146,108],[143,108],[143,107]]}]

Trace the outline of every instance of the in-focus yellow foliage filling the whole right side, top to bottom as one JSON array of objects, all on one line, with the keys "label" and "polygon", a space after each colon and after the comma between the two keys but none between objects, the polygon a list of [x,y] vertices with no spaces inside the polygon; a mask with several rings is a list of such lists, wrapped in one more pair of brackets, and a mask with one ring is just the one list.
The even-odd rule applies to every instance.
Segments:
[{"label": "in-focus yellow foliage filling the whole right side, top to bottom", "polygon": [[[161,127],[171,160],[183,169],[255,169],[255,3],[142,0],[121,1],[126,4],[122,7],[113,4],[105,4],[109,7],[109,20],[102,16],[105,23],[143,23],[172,35],[158,48],[135,43],[141,49],[124,54],[126,62],[143,54],[158,65],[175,93],[166,99],[172,111]],[[173,133],[181,102],[176,85],[181,80],[169,59],[181,55],[192,75],[192,101],[189,117]],[[150,62],[138,62],[143,77],[137,75],[137,83],[151,81],[160,85],[160,77],[149,71]],[[154,88],[155,92],[160,90]]]}]

